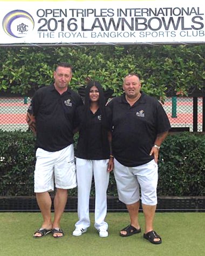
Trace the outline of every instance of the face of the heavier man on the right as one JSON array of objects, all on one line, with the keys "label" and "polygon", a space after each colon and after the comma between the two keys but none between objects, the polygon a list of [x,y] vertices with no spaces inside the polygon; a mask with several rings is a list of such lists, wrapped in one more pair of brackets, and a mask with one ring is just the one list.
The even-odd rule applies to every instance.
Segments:
[{"label": "face of the heavier man on the right", "polygon": [[135,98],[139,95],[141,84],[140,80],[136,76],[125,77],[123,89],[128,98]]}]

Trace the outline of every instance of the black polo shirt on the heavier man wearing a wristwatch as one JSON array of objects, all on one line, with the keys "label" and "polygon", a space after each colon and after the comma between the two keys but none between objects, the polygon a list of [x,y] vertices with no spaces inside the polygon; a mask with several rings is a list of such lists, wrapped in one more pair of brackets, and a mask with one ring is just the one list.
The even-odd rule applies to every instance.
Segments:
[{"label": "black polo shirt on the heavier man wearing a wristwatch", "polygon": [[170,129],[162,105],[153,97],[142,95],[133,106],[125,95],[113,98],[108,107],[112,112],[112,150],[114,157],[125,166],[146,164],[156,136]]}]

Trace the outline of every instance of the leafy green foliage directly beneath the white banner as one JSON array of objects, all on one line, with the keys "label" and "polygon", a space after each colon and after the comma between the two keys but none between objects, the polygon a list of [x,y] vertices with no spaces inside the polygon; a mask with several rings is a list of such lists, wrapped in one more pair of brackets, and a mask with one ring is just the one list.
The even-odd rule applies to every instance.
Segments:
[{"label": "leafy green foliage directly beneath the white banner", "polygon": [[0,92],[28,95],[49,85],[58,62],[73,66],[71,87],[96,79],[113,96],[122,93],[122,78],[138,73],[142,90],[158,99],[204,92],[205,45],[95,45],[0,48]]}]

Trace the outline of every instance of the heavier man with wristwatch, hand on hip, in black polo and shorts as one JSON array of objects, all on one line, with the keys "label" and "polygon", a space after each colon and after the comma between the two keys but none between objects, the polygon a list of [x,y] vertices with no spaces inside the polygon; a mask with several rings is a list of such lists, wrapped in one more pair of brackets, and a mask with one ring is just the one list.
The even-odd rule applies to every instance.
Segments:
[{"label": "heavier man with wristwatch, hand on hip, in black polo and shorts", "polygon": [[144,238],[161,244],[153,230],[157,204],[158,154],[168,134],[170,123],[158,100],[141,92],[139,76],[131,73],[124,79],[125,94],[113,98],[108,107],[112,112],[112,149],[114,176],[119,199],[126,204],[130,225],[120,231],[122,237],[140,233],[138,221],[139,186],[145,215]]}]

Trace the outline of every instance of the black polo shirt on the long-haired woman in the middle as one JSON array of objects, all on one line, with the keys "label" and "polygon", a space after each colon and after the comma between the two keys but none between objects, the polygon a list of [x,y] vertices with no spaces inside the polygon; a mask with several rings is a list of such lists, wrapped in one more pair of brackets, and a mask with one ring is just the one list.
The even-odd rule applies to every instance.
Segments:
[{"label": "black polo shirt on the long-haired woman in the middle", "polygon": [[110,157],[110,146],[106,134],[105,136],[102,134],[100,110],[98,109],[94,114],[90,111],[88,127],[82,126],[84,115],[84,106],[78,107],[76,122],[79,127],[79,138],[76,157],[89,160],[108,159]]}]

